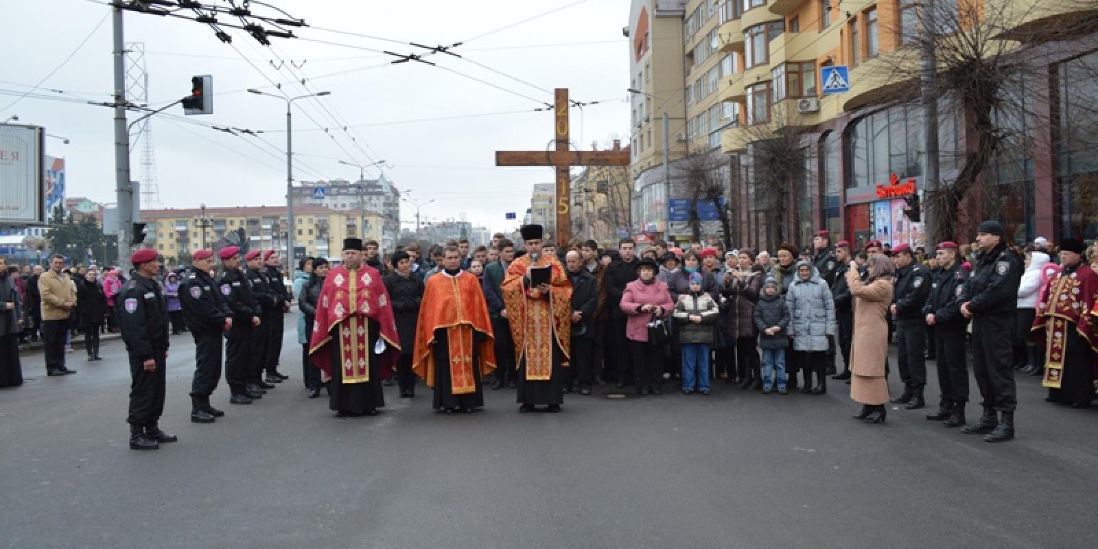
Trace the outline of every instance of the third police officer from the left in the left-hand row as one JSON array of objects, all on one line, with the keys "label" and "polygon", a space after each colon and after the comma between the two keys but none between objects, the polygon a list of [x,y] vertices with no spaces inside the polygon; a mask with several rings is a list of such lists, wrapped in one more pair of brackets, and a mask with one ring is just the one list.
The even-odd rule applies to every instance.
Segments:
[{"label": "third police officer from the left in the left-hand row", "polygon": [[217,288],[225,304],[233,312],[233,327],[228,330],[225,346],[225,381],[233,392],[231,404],[251,404],[262,399],[262,393],[250,391],[248,377],[251,373],[251,338],[260,325],[262,311],[251,295],[251,281],[240,269],[240,248],[228,246],[219,253],[224,272],[217,279]]}]

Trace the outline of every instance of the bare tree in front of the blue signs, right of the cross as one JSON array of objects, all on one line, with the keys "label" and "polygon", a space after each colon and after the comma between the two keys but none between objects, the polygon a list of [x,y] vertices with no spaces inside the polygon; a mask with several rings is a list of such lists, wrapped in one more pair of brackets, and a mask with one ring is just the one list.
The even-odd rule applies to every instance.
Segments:
[{"label": "bare tree in front of the blue signs, right of the cross", "polygon": [[709,202],[717,211],[717,220],[724,231],[721,242],[725,249],[731,248],[731,223],[728,220],[728,209],[721,208],[721,202],[728,194],[729,158],[720,149],[710,149],[687,156],[674,163],[672,179],[677,179],[690,197],[690,227],[694,240],[702,240],[702,217],[698,215],[698,203]]}]

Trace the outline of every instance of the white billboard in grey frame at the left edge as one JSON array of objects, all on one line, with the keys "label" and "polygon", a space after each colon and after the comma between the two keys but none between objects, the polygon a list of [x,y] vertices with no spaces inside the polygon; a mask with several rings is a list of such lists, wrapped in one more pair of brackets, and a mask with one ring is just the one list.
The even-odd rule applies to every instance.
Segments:
[{"label": "white billboard in grey frame at the left edge", "polygon": [[0,124],[0,225],[45,225],[45,132]]}]

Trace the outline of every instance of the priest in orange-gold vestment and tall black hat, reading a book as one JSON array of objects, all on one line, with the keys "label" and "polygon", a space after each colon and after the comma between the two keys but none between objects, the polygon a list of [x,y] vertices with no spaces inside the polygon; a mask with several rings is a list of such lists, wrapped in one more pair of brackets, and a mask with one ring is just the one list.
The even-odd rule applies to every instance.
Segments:
[{"label": "priest in orange-gold vestment and tall black hat, reading a book", "polygon": [[[526,255],[511,262],[501,285],[515,340],[519,411],[547,404],[548,412],[560,412],[572,333],[572,283],[557,256],[541,253],[541,225],[524,225],[522,233]],[[534,281],[538,269],[548,269],[548,282]]]}]

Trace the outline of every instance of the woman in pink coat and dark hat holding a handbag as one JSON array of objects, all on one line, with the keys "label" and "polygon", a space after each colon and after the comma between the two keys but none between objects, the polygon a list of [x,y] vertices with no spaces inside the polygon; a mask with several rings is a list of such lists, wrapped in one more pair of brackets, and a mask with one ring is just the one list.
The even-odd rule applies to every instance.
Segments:
[{"label": "woman in pink coat and dark hat holding a handbag", "polygon": [[659,349],[648,345],[648,323],[669,316],[675,309],[668,284],[656,279],[660,270],[652,259],[641,259],[637,264],[638,279],[629,282],[621,294],[621,311],[629,320],[625,336],[629,339],[632,354],[632,376],[637,394],[660,394],[660,372],[663,371]]}]

